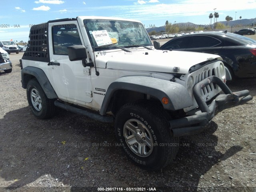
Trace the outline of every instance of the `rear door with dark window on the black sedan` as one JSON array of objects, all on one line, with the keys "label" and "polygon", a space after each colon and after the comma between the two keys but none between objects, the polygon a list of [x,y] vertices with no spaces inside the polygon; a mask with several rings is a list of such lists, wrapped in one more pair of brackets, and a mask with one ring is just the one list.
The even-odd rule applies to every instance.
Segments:
[{"label": "rear door with dark window on the black sedan", "polygon": [[223,47],[220,40],[205,35],[194,35],[191,37],[190,44],[186,51],[220,55]]}]

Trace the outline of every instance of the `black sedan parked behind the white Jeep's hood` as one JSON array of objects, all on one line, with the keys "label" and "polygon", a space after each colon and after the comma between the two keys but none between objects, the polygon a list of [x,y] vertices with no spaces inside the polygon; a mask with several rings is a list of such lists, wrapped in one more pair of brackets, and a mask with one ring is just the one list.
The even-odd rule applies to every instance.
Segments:
[{"label": "black sedan parked behind the white Jeep's hood", "polygon": [[217,54],[226,67],[226,79],[256,77],[256,41],[233,33],[203,32],[183,35],[162,45],[160,50]]}]

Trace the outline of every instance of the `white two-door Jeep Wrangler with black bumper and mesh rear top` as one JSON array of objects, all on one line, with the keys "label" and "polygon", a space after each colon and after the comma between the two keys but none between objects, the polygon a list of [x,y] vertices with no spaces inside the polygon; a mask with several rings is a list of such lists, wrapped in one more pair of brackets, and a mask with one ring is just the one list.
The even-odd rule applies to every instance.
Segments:
[{"label": "white two-door Jeep Wrangler with black bumper and mesh rear top", "polygon": [[125,154],[144,169],[163,168],[180,136],[202,132],[218,112],[252,99],[226,86],[219,56],[154,50],[136,20],[52,20],[32,26],[29,39],[20,62],[33,114],[50,118],[57,106],[114,122]]}]

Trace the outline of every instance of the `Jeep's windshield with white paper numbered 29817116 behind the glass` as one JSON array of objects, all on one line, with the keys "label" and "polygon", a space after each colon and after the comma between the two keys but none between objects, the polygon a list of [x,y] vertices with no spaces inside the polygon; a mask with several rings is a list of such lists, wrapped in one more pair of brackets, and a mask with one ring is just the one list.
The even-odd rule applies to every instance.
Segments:
[{"label": "Jeep's windshield with white paper numbered 29817116 behind the glass", "polygon": [[[128,48],[134,44],[152,46],[148,33],[139,22],[85,19],[84,26],[96,51],[118,49],[116,46]],[[110,44],[116,46],[108,46]]]}]

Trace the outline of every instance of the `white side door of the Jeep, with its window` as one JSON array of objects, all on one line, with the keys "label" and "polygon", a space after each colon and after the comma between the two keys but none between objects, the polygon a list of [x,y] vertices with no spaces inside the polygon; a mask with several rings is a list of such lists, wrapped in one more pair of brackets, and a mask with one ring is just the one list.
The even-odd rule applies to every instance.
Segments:
[{"label": "white side door of the Jeep, with its window", "polygon": [[85,104],[92,102],[90,67],[84,67],[82,61],[69,60],[67,47],[73,45],[84,45],[76,20],[54,22],[49,26],[48,65],[54,89],[64,100]]}]

